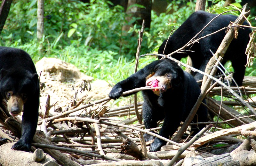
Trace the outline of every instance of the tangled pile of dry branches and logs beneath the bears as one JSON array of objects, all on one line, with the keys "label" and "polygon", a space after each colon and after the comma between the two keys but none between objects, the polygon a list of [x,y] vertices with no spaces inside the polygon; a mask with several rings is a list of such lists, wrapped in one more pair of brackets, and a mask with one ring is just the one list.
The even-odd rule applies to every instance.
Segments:
[{"label": "tangled pile of dry branches and logs beneath the bears", "polygon": [[[246,12],[246,10],[243,11],[241,18],[248,15]],[[227,38],[225,37],[226,41],[232,40],[235,28],[232,26],[229,31],[226,35]],[[143,28],[140,31],[139,45],[142,39],[141,33],[143,34]],[[10,150],[13,143],[7,143],[0,147],[0,163],[2,165],[36,165],[38,163],[38,165],[45,166],[58,164],[63,166],[178,166],[182,163],[185,166],[192,165],[192,163],[202,166],[211,164],[222,166],[256,165],[256,142],[254,140],[256,138],[254,131],[256,128],[256,103],[250,98],[250,95],[256,94],[256,78],[246,76],[243,87],[229,87],[213,77],[215,69],[221,61],[218,59],[224,55],[223,49],[228,47],[225,43],[228,42],[220,45],[220,50],[218,49],[214,54],[216,56],[210,60],[210,66],[207,66],[205,73],[177,61],[169,55],[160,55],[204,74],[202,93],[198,97],[196,105],[200,105],[203,98],[206,98],[207,108],[209,112],[216,115],[217,120],[205,122],[207,127],[192,139],[189,138],[188,126],[191,125],[190,122],[195,116],[196,105],[171,141],[151,132],[157,133],[161,127],[145,129],[141,123],[143,102],[137,103],[136,101],[132,105],[109,108],[106,106],[110,100],[109,97],[89,103],[86,101],[86,96],[79,101],[74,97],[68,109],[65,111],[56,109],[59,112],[52,114],[49,113],[49,110],[54,104],[50,104],[50,96],[48,96],[45,112],[40,114],[38,121],[41,130],[37,131],[33,139],[34,143],[32,143],[31,150],[34,153]],[[139,55],[139,50],[137,55]],[[212,80],[216,83],[211,84]],[[220,84],[221,87],[216,87],[217,84]],[[80,88],[90,90],[90,84],[85,81]],[[145,89],[150,88],[134,89],[124,92],[123,95]],[[220,96],[220,101],[212,98],[216,95]],[[222,101],[222,97],[230,100]],[[70,115],[77,111],[82,112],[78,116]],[[122,117],[126,117],[126,119]],[[1,107],[0,123],[4,128],[4,132],[0,131],[0,136],[17,141],[16,137],[19,138],[21,133],[21,120],[12,117],[5,107]],[[160,126],[161,123],[159,123]],[[145,142],[144,133],[163,139],[168,143],[159,152],[148,152],[152,141]],[[184,135],[186,135],[186,139],[183,138]],[[43,151],[36,148],[41,148]],[[49,156],[44,155],[44,152]],[[10,155],[10,153],[12,154]],[[10,156],[15,156],[20,160],[16,161]]]}]

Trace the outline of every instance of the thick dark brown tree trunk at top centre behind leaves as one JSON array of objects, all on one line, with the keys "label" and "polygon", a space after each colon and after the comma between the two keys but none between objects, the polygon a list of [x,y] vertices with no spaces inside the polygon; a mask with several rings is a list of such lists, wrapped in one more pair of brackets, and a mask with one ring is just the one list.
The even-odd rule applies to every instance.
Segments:
[{"label": "thick dark brown tree trunk at top centre behind leaves", "polygon": [[[140,8],[138,6],[132,6],[134,4],[143,5],[145,8]],[[143,19],[145,20],[145,28],[150,28],[151,23],[151,8],[152,0],[128,0],[126,13],[129,17],[126,18],[129,23],[133,17],[139,18],[135,23],[142,25]],[[134,25],[134,24],[133,24]],[[124,25],[123,30],[128,31],[133,25]]]}]

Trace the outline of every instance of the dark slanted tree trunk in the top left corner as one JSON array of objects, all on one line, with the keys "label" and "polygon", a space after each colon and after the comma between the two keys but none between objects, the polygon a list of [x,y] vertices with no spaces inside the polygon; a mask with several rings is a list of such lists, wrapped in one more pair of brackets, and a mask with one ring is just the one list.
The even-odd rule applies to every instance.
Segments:
[{"label": "dark slanted tree trunk in the top left corner", "polygon": [[12,0],[3,0],[0,7],[0,34],[4,28],[6,18],[11,8]]}]

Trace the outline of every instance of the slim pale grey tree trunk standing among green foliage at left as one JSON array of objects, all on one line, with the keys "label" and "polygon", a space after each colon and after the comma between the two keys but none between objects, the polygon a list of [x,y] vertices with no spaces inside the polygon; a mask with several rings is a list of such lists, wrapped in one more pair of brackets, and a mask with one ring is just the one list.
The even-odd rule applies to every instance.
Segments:
[{"label": "slim pale grey tree trunk standing among green foliage at left", "polygon": [[44,34],[44,0],[37,0],[36,37],[38,41],[42,40],[43,34]]}]

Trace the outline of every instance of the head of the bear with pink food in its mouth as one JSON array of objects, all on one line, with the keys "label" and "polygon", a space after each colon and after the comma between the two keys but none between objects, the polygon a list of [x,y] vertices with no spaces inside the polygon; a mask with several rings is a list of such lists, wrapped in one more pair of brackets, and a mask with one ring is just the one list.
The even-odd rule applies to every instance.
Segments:
[{"label": "head of the bear with pink food in its mouth", "polygon": [[163,59],[155,67],[155,73],[146,80],[146,86],[159,87],[154,89],[156,95],[160,95],[168,89],[175,89],[182,86],[183,71],[174,61]]}]

